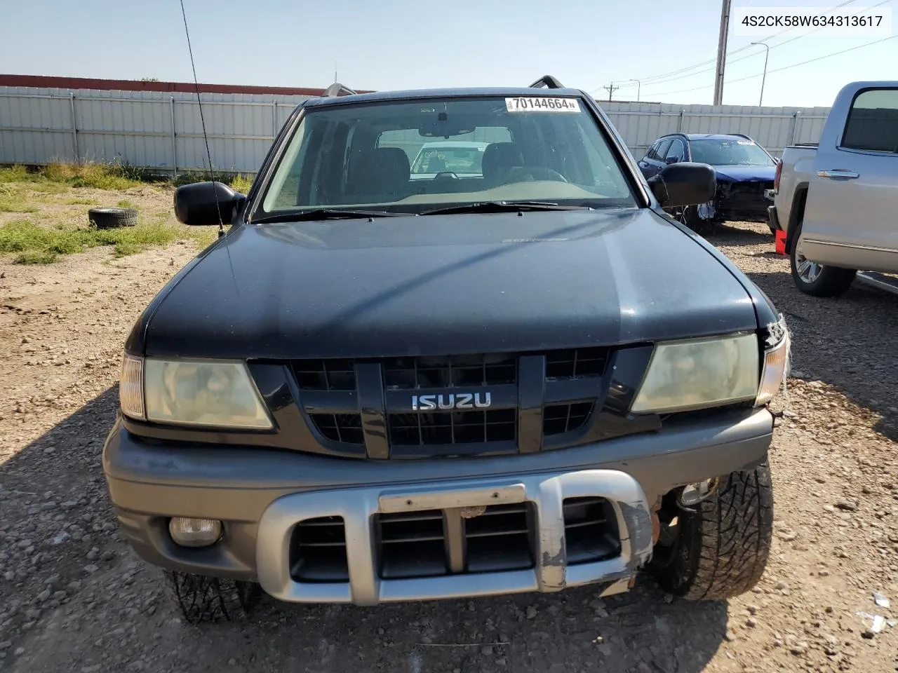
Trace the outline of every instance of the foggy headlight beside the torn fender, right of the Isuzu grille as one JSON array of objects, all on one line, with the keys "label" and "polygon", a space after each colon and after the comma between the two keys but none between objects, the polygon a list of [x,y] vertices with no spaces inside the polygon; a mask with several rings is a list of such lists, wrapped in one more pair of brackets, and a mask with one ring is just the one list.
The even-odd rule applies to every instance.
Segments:
[{"label": "foggy headlight beside the torn fender, right of the Isuzu grille", "polygon": [[631,411],[661,414],[753,400],[758,351],[753,333],[659,343]]}]

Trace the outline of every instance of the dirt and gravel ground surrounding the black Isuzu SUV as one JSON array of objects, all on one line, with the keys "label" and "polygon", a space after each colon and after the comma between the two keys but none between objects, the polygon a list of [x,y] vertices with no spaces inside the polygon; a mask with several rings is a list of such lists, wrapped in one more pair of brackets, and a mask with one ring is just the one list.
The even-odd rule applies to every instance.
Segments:
[{"label": "dirt and gravel ground surrounding the black Isuzu SUV", "polygon": [[0,670],[898,670],[898,623],[874,634],[858,616],[898,617],[898,298],[860,284],[837,301],[798,293],[763,226],[710,238],[794,333],[770,453],[776,538],[753,592],[690,603],[641,577],[605,600],[589,588],[370,608],[267,599],[248,621],[202,627],[180,622],[120,537],[100,462],[128,330],[196,248],[0,261]]}]

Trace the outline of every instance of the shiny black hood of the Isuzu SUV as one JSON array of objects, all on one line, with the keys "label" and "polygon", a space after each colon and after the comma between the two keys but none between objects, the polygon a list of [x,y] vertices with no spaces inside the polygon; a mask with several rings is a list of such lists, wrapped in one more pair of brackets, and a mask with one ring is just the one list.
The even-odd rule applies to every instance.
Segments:
[{"label": "shiny black hood of the Isuzu SUV", "polygon": [[753,330],[753,298],[725,265],[646,209],[244,225],[173,278],[141,323],[148,355],[278,359]]}]

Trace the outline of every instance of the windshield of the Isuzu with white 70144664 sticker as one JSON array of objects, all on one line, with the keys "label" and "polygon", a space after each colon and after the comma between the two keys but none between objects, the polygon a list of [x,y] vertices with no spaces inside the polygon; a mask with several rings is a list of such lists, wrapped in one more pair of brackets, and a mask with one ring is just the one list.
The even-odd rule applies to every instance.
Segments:
[{"label": "windshield of the Isuzu with white 70144664 sticker", "polygon": [[577,99],[423,99],[313,108],[287,143],[265,191],[263,213],[422,213],[524,200],[636,205],[615,153]]}]

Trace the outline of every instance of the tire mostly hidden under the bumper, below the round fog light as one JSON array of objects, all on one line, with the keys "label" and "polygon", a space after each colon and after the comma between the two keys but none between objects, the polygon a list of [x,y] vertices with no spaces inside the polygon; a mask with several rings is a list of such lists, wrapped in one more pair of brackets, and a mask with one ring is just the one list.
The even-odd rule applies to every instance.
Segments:
[{"label": "tire mostly hidden under the bumper, below the round fog light", "polygon": [[234,621],[250,614],[262,589],[251,581],[163,571],[165,590],[189,624]]}]

